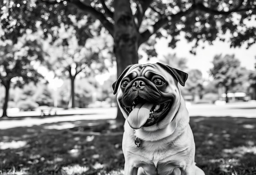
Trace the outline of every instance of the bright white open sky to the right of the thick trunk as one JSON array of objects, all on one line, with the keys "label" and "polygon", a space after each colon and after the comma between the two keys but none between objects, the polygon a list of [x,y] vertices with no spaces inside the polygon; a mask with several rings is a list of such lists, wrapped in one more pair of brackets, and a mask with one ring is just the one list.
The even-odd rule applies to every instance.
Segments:
[{"label": "bright white open sky to the right of the thick trunk", "polygon": [[[222,54],[222,56],[225,56],[226,54],[235,54],[235,58],[240,60],[242,67],[245,67],[247,70],[255,70],[256,44],[249,47],[249,49],[246,49],[247,44],[240,48],[230,48],[229,42],[216,40],[213,42],[213,45],[209,45],[208,43],[200,43],[197,48],[196,55],[193,55],[189,52],[193,46],[193,43],[187,43],[187,41],[182,38],[184,38],[184,36],[180,36],[180,41],[178,41],[175,49],[168,47],[167,39],[157,39],[155,49],[159,58],[168,53],[176,53],[177,57],[187,58],[188,68],[200,70],[205,79],[209,77],[209,69],[213,67],[213,64],[211,63],[213,61],[213,57],[218,54]],[[202,49],[202,46],[204,46],[204,49]],[[139,63],[147,62],[155,63],[157,62],[157,59],[152,59],[150,61],[141,59],[139,61]]]}]

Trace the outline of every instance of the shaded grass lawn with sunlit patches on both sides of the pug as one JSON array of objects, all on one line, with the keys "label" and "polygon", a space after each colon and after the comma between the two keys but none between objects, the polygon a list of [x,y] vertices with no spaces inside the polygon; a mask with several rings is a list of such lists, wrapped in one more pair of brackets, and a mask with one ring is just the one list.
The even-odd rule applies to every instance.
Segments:
[{"label": "shaded grass lawn with sunlit patches on both sides of the pug", "polygon": [[[256,174],[256,119],[191,117],[206,175]],[[121,175],[122,126],[68,121],[0,130],[0,175]]]}]

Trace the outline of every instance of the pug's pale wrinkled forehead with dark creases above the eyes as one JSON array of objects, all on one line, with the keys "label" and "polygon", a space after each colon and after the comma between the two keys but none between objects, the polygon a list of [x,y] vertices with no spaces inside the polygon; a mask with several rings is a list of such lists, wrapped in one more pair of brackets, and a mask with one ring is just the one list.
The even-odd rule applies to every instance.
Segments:
[{"label": "pug's pale wrinkled forehead with dark creases above the eyes", "polygon": [[148,63],[132,65],[130,70],[126,73],[125,77],[135,79],[136,77],[144,76],[147,79],[150,79],[154,75],[166,77],[166,74],[168,74],[168,72],[163,70],[159,65]]}]

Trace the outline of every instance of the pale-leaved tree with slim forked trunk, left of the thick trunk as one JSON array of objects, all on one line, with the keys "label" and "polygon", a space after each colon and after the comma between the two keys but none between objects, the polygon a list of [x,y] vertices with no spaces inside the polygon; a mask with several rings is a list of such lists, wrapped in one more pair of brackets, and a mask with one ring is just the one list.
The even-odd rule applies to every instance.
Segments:
[{"label": "pale-leaved tree with slim forked trunk, left of the thick trunk", "polygon": [[[76,77],[83,72],[85,75],[99,73],[107,70],[105,59],[112,62],[112,53],[109,43],[111,36],[101,34],[92,39],[87,39],[85,45],[79,45],[74,27],[66,29],[64,24],[58,29],[54,36],[56,40],[49,45],[49,63],[51,69],[59,77],[67,76],[71,82],[70,101],[71,108],[75,106],[75,84]],[[110,37],[110,38],[109,38]]]}]

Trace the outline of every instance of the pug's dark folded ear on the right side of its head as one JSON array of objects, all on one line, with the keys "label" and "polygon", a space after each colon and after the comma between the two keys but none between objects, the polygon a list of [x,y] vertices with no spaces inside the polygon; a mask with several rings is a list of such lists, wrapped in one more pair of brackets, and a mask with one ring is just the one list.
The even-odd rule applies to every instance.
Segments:
[{"label": "pug's dark folded ear on the right side of its head", "polygon": [[168,65],[164,65],[162,63],[156,63],[157,65],[161,66],[164,70],[166,70],[168,73],[170,73],[174,78],[182,85],[185,86],[185,82],[188,79],[188,74],[186,72],[183,72],[181,70],[177,70],[173,67],[170,67]]}]

